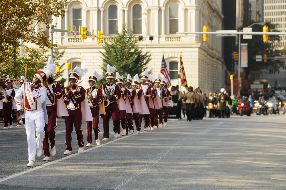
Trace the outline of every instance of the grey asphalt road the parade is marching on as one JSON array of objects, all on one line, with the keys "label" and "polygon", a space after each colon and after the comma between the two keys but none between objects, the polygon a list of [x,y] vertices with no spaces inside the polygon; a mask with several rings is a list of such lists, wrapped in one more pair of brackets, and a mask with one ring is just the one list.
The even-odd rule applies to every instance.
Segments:
[{"label": "grey asphalt road the parade is marching on", "polygon": [[153,131],[110,135],[110,141],[85,147],[82,154],[73,132],[72,155],[63,155],[64,125],[59,119],[57,154],[47,162],[43,155],[36,157],[32,168],[26,167],[25,128],[1,127],[0,189],[284,190],[285,119],[284,114],[192,122],[183,118]]}]

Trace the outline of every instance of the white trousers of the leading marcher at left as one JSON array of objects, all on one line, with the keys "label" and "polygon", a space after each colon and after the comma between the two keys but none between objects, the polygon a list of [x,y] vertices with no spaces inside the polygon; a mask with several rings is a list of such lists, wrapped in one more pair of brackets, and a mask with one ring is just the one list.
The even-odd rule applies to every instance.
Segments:
[{"label": "white trousers of the leading marcher at left", "polygon": [[[25,125],[28,141],[29,161],[35,161],[37,149],[42,147],[45,137],[43,109],[25,112]],[[35,137],[36,133],[36,137]]]}]

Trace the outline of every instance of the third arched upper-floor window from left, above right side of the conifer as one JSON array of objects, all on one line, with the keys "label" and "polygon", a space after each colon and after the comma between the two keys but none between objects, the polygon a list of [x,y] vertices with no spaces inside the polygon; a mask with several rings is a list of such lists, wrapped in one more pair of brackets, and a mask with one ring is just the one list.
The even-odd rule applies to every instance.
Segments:
[{"label": "third arched upper-floor window from left, above right side of the conifer", "polygon": [[133,34],[142,34],[142,7],[136,4],[132,8]]}]

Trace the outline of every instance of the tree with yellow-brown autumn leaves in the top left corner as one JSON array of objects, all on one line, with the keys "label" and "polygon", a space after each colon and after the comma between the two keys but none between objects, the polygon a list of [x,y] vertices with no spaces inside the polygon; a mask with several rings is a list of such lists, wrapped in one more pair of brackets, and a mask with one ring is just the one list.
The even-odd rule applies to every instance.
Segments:
[{"label": "tree with yellow-brown autumn leaves in the top left corner", "polygon": [[[0,6],[0,67],[14,59],[19,39],[44,49],[51,47],[46,28],[51,15],[65,16],[66,0],[2,0]],[[55,46],[56,44],[54,44]]]}]

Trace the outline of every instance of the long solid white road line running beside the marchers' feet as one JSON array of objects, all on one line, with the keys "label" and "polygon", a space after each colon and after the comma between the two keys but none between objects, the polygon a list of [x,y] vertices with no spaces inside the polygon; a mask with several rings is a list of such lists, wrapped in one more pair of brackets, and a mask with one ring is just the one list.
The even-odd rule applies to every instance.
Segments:
[{"label": "long solid white road line running beside the marchers' feet", "polygon": [[[142,132],[143,132],[143,131],[142,131]],[[142,133],[142,132],[140,132],[140,133]],[[137,134],[133,134],[133,135],[137,135]],[[128,135],[128,136],[131,136],[131,135]],[[124,138],[126,138],[126,137],[128,137],[128,136],[124,136],[124,137],[121,137],[121,138],[112,140],[112,141],[110,141],[110,142],[106,142],[106,143],[104,143],[104,144],[102,144],[102,145],[100,145],[100,146],[92,147],[92,148],[90,148],[90,149],[85,150],[84,152],[88,152],[88,151],[91,151],[91,150],[93,150],[93,149],[97,149],[97,148],[102,147],[102,146],[104,146],[104,145],[108,145],[108,144],[110,144],[110,143],[112,143],[112,142],[116,142],[116,141],[118,141],[118,140],[124,139]],[[46,166],[49,166],[49,165],[51,165],[51,164],[54,164],[54,163],[63,161],[63,160],[65,160],[65,159],[72,158],[72,157],[77,156],[77,155],[80,155],[80,154],[79,154],[79,153],[75,153],[75,154],[72,154],[72,155],[68,155],[68,156],[63,157],[63,158],[60,158],[60,159],[58,159],[58,160],[54,160],[54,161],[51,161],[51,162],[42,164],[42,165],[40,165],[40,166],[37,166],[37,167],[31,168],[31,169],[22,171],[22,172],[20,172],[20,173],[16,173],[16,174],[13,174],[13,175],[4,177],[4,178],[0,179],[0,183],[3,182],[3,181],[6,181],[6,180],[8,180],[8,179],[12,179],[12,178],[14,178],[14,177],[23,175],[23,174],[25,174],[25,173],[30,173],[30,172],[32,172],[32,171],[41,169],[41,168],[46,167]]]}]

